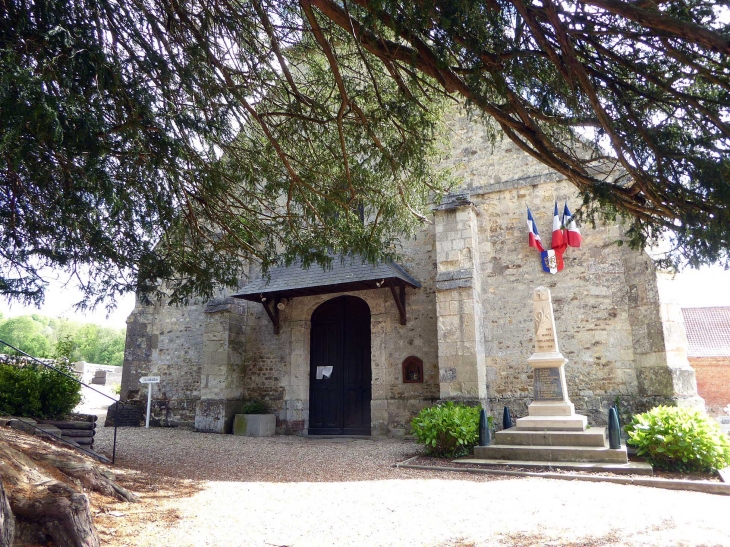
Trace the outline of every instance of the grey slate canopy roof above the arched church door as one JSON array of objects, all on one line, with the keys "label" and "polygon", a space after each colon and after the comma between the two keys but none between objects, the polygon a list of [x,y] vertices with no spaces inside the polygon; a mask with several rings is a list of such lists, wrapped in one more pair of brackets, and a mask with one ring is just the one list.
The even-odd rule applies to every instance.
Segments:
[{"label": "grey slate canopy roof above the arched church door", "polygon": [[233,298],[259,302],[261,295],[277,298],[311,296],[342,291],[387,288],[387,281],[419,288],[421,284],[395,262],[370,264],[360,256],[335,257],[330,268],[312,264],[305,269],[301,262],[289,267],[274,268],[269,278],[261,278],[246,285]]}]

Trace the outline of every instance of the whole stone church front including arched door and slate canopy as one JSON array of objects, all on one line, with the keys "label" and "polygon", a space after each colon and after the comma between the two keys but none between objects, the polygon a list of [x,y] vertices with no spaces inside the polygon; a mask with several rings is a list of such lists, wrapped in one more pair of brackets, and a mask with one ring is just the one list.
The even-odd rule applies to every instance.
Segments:
[{"label": "whole stone church front including arched door and slate canopy", "polygon": [[570,399],[589,423],[605,424],[616,400],[627,412],[701,406],[681,311],[662,300],[649,256],[616,245],[618,224],[582,226],[564,270],[544,273],[527,245],[526,206],[547,244],[553,202],[577,207],[575,188],[506,139],[492,147],[466,118],[449,130],[445,165],[463,184],[402,241],[399,264],[336,259],[330,271],[272,272],[268,285],[252,270],[214,301],[138,304],[122,398],[140,398],[139,378],[159,375],[157,422],[216,432],[251,399],[269,404],[278,432],[295,434],[403,435],[438,400],[524,416],[532,291],[543,285]]}]

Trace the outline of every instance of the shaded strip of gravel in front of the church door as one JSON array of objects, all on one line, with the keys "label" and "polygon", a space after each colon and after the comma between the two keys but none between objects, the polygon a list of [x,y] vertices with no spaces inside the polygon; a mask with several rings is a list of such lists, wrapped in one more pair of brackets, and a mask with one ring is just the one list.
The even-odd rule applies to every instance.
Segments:
[{"label": "shaded strip of gravel in front of the church door", "polygon": [[[110,428],[104,428],[109,430]],[[111,450],[111,432],[97,450]],[[221,482],[352,482],[388,479],[508,480],[482,475],[397,469],[422,448],[406,439],[238,437],[183,428],[119,428],[117,466],[160,480]]]}]

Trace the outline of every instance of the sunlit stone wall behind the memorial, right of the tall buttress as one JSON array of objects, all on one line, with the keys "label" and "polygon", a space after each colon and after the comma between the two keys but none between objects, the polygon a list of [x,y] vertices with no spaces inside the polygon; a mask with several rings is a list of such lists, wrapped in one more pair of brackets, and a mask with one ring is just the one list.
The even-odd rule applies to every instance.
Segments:
[{"label": "sunlit stone wall behind the memorial, right of the tall buttress", "polygon": [[[702,406],[684,351],[686,338],[675,321],[678,308],[662,304],[650,257],[616,244],[622,239],[617,223],[582,226],[582,248],[566,251],[562,272],[544,273],[539,253],[527,245],[526,206],[549,248],[553,203],[558,201],[562,213],[567,199],[575,210],[581,203],[575,187],[506,138],[492,145],[487,132],[463,116],[455,117],[450,129],[446,165],[464,180],[461,194],[452,199],[473,204],[479,227],[474,267],[480,272],[487,391],[497,421],[503,406],[527,415],[530,305],[539,285],[553,296],[558,337],[569,360],[570,398],[590,423],[605,424],[617,399],[627,412],[658,403]],[[440,245],[438,225],[437,220]],[[460,237],[455,233],[452,241]]]}]

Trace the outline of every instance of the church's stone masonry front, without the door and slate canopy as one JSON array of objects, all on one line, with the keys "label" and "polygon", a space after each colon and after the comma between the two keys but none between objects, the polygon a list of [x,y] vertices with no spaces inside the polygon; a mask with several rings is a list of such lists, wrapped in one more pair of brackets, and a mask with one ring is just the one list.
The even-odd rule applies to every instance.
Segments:
[{"label": "church's stone masonry front, without the door and slate canopy", "polygon": [[[569,360],[570,399],[590,423],[605,423],[616,398],[627,412],[694,401],[686,356],[670,348],[671,322],[662,321],[667,314],[654,267],[646,254],[615,245],[620,226],[581,227],[583,247],[566,251],[564,271],[542,272],[539,253],[527,246],[525,206],[549,246],[553,201],[562,208],[568,199],[577,208],[575,188],[506,139],[492,147],[484,130],[463,116],[449,124],[449,140],[443,165],[463,180],[456,191],[473,211],[473,222],[466,231],[458,223],[447,229],[440,223],[453,215],[446,211],[432,215],[435,223],[414,239],[402,241],[400,263],[422,283],[407,291],[408,324],[399,324],[387,288],[341,293],[363,298],[371,309],[373,433],[407,433],[421,408],[444,393],[459,398],[451,391],[474,382],[479,400],[486,393],[496,423],[505,405],[516,416],[526,415],[532,397],[527,364],[533,351],[532,291],[540,285],[552,292],[560,349]],[[453,295],[442,290],[450,282],[439,285],[437,271],[448,278],[465,265],[473,270],[469,278],[476,289],[469,294],[475,296],[457,295],[461,300],[452,302]],[[223,299],[220,305],[185,308],[137,306],[128,323],[122,395],[135,394],[139,376],[160,374],[163,422],[196,420],[202,429],[224,431],[241,399],[263,399],[277,413],[279,432],[301,432],[308,425],[311,314],[336,296],[294,298],[281,313],[278,336],[258,304]],[[470,317],[479,324],[464,337],[456,332],[464,318],[454,322],[449,316],[460,315],[470,298],[478,301]],[[453,352],[439,348],[449,329],[456,329]],[[401,363],[409,355],[424,362],[423,384],[402,381]],[[461,364],[440,370],[440,355]]]}]

